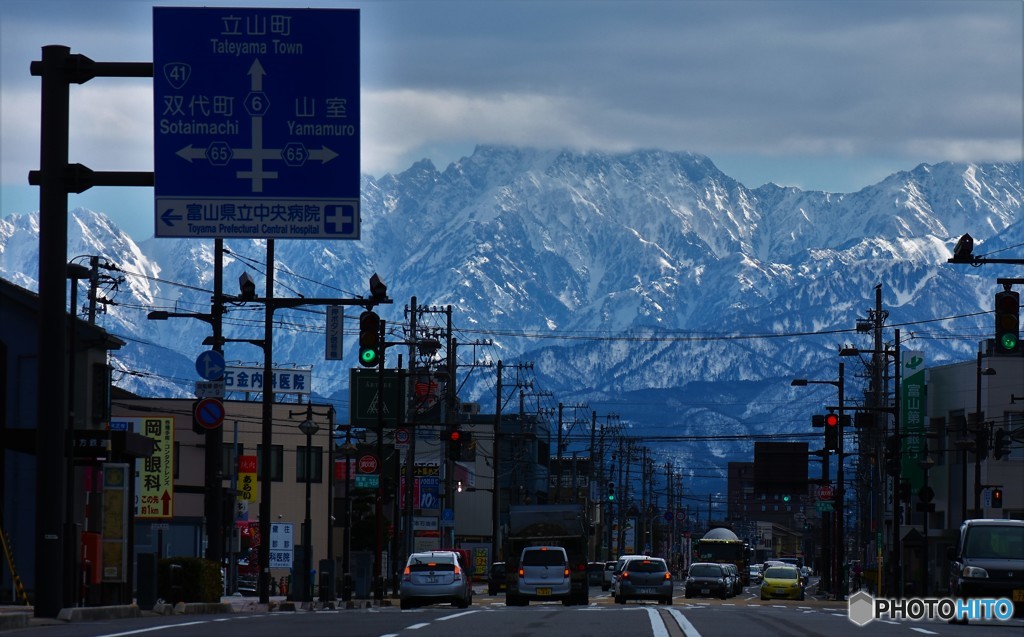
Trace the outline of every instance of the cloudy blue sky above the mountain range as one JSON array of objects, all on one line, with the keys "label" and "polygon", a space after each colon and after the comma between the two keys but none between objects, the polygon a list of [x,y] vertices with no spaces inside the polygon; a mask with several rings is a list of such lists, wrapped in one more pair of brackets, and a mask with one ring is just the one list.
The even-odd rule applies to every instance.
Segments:
[{"label": "cloudy blue sky above the mountain range", "polygon": [[[153,6],[360,10],[361,172],[443,169],[480,143],[707,155],[748,186],[854,192],[1024,154],[1019,0],[0,3],[0,216],[39,207],[39,78],[62,44],[153,60]],[[71,161],[153,170],[148,79],[72,87]],[[136,240],[152,188],[71,196]]]}]

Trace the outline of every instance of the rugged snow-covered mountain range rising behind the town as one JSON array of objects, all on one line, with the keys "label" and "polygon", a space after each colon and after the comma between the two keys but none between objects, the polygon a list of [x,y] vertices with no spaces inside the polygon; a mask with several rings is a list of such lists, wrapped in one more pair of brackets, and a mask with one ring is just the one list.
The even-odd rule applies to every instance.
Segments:
[{"label": "rugged snow-covered mountain range rising behind the town", "polygon": [[[964,232],[977,254],[1024,243],[1021,163],[921,165],[831,194],[751,189],[687,153],[481,146],[442,171],[422,161],[364,176],[361,187],[362,240],[279,241],[276,296],[361,296],[376,271],[395,299],[380,309],[389,325],[407,322],[413,296],[451,305],[460,365],[471,355],[532,363],[530,392],[614,412],[647,436],[809,429],[788,381],[834,377],[842,343],[871,346],[854,326],[878,285],[905,346],[930,364],[971,358],[991,317],[957,316],[990,310],[995,278],[1014,272],[946,259]],[[86,210],[69,223],[69,258],[100,255],[121,270],[104,270],[121,281],[104,288],[114,303],[98,320],[129,342],[115,354],[118,384],[188,395],[208,327],[145,314],[209,311],[213,242],[136,244]],[[243,271],[262,290],[264,242],[225,243],[227,291]],[[0,275],[35,289],[37,246],[38,215],[7,216]],[[275,360],[313,366],[314,390],[346,402],[354,360],[324,360],[323,308],[275,320]],[[225,335],[259,338],[261,326],[261,308],[231,307]],[[229,359],[261,355],[228,345]],[[493,405],[494,376],[467,371],[462,397]],[[734,447],[707,442],[686,455],[722,459]]]}]

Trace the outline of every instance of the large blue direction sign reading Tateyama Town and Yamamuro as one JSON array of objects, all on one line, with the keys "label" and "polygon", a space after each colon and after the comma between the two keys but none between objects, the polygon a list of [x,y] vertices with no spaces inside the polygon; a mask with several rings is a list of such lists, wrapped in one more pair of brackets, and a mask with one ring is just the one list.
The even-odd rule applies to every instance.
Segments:
[{"label": "large blue direction sign reading Tateyama Town and Yamamuro", "polygon": [[357,9],[154,7],[156,237],[359,238]]}]

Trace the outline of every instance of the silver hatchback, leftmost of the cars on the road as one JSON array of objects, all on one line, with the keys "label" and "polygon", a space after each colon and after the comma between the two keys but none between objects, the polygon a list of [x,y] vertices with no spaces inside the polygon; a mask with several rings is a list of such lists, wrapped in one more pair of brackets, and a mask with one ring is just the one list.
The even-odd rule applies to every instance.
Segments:
[{"label": "silver hatchback, leftmost of the cars on the road", "polygon": [[399,597],[402,609],[446,602],[465,608],[473,603],[473,583],[454,551],[413,553],[401,574]]}]

